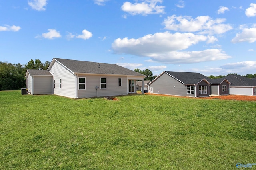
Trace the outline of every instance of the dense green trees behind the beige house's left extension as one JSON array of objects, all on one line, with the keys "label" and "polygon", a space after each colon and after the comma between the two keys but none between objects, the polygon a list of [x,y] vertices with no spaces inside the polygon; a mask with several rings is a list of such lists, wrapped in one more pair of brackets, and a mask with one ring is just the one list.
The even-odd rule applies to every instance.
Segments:
[{"label": "dense green trees behind the beige house's left extension", "polygon": [[26,88],[27,69],[47,70],[50,61],[42,63],[39,59],[30,60],[27,64],[12,64],[0,61],[0,90],[19,90]]}]

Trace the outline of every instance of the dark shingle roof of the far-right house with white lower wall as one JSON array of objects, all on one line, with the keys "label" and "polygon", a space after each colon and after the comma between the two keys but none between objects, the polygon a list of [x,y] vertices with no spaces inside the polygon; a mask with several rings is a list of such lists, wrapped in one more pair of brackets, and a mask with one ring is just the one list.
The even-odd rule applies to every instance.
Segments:
[{"label": "dark shingle roof of the far-right house with white lower wall", "polygon": [[256,86],[256,81],[240,75],[228,75],[226,78],[230,86]]}]

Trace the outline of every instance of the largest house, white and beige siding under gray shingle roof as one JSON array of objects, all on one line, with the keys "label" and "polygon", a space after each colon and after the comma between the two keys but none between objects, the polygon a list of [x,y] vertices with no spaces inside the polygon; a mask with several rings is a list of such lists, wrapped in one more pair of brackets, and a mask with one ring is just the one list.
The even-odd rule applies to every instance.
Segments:
[{"label": "largest house, white and beige siding under gray shingle roof", "polygon": [[[51,94],[69,98],[89,98],[96,96],[116,96],[136,93],[136,80],[143,80],[146,76],[116,64],[95,63],[69,59],[52,59],[47,70],[36,70],[42,74],[35,76],[27,71],[27,88],[30,94],[41,88],[40,83],[46,77],[47,86]],[[42,71],[42,72],[41,72]],[[34,76],[34,83],[30,77]],[[36,80],[35,80],[36,77]],[[38,78],[37,78],[38,77]],[[32,78],[31,78],[32,79]],[[48,82],[49,81],[49,82]],[[35,83],[37,82],[37,83]],[[42,86],[42,85],[41,85]],[[43,90],[42,90],[43,91]],[[50,94],[48,91],[40,94]]]}]

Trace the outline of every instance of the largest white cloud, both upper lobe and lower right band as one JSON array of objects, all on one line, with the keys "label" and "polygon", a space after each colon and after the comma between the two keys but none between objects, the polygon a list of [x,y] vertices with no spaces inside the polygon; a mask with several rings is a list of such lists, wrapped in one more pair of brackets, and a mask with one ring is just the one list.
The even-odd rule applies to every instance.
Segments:
[{"label": "largest white cloud, both upper lobe and lower right band", "polygon": [[[214,38],[210,37],[210,39]],[[150,57],[152,61],[172,64],[199,63],[230,57],[222,53],[220,49],[181,52],[181,50],[187,49],[200,41],[207,40],[209,38],[204,35],[193,33],[172,34],[166,31],[154,35],[145,35],[138,39],[118,38],[112,43],[112,49],[115,53]]]}]

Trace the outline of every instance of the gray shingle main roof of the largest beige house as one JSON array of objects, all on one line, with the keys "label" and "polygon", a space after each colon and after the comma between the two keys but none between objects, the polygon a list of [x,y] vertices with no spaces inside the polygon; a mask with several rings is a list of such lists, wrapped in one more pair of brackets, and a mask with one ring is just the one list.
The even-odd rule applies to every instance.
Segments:
[{"label": "gray shingle main roof of the largest beige house", "polygon": [[70,59],[55,58],[61,64],[66,66],[72,72],[76,73],[90,73],[90,74],[117,74],[117,75],[129,75],[129,76],[144,76],[138,72],[129,70],[116,64],[96,63],[89,61],[78,61]]}]

